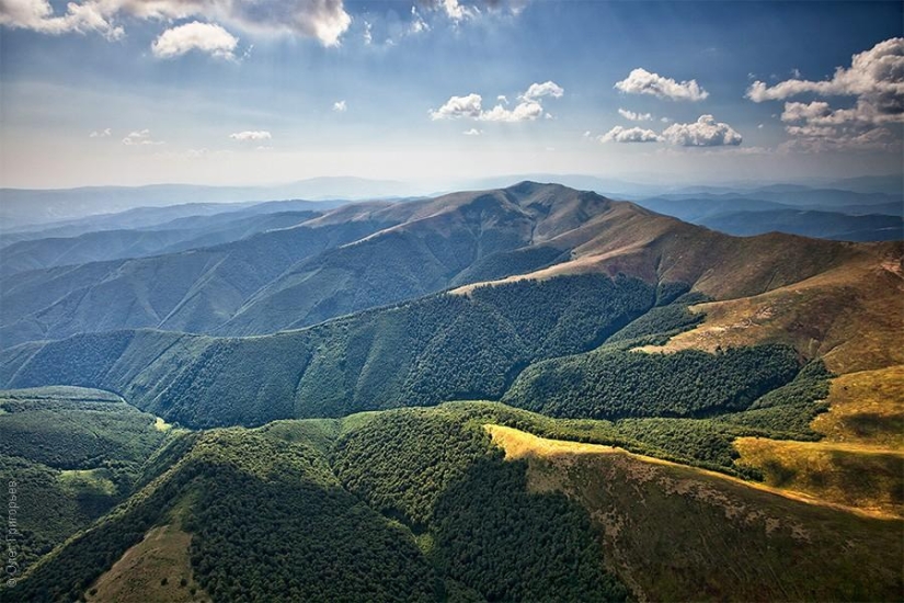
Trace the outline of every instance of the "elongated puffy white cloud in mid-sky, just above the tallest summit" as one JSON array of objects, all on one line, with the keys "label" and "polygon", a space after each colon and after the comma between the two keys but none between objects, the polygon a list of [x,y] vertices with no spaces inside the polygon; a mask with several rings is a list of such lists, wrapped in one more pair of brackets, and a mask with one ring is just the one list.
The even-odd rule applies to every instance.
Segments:
[{"label": "elongated puffy white cloud in mid-sky, just above the tallest summit", "polygon": [[[520,102],[513,109],[508,109],[508,101],[504,95],[499,95],[500,101],[489,110],[483,109],[483,98],[480,94],[468,94],[467,96],[451,96],[437,110],[431,110],[433,120],[456,120],[460,117],[476,120],[479,122],[533,122],[545,115],[541,99],[551,96],[559,99],[564,94],[564,90],[552,81],[545,83],[533,83],[527,91],[518,95]],[[549,118],[551,115],[546,113]]]}]

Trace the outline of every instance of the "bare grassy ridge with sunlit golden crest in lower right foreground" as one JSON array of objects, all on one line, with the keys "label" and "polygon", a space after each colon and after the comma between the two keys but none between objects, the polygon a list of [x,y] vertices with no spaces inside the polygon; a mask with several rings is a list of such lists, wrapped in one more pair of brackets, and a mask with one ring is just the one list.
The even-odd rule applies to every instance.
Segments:
[{"label": "bare grassy ridge with sunlit golden crest in lower right foreground", "polygon": [[599,527],[641,601],[896,601],[904,522],[682,465],[488,426],[528,487],[562,491]]}]

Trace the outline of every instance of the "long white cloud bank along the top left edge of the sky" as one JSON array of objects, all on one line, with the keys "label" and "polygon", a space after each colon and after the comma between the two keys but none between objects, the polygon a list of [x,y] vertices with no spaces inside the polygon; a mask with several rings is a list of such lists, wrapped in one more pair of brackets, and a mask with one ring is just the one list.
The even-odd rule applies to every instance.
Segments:
[{"label": "long white cloud bank along the top left edge of the sky", "polygon": [[0,0],[0,25],[50,34],[100,32],[117,38],[124,35],[115,23],[122,16],[203,18],[262,35],[313,37],[324,46],[339,45],[352,23],[343,0],[82,0],[69,2],[61,14],[47,0]]}]

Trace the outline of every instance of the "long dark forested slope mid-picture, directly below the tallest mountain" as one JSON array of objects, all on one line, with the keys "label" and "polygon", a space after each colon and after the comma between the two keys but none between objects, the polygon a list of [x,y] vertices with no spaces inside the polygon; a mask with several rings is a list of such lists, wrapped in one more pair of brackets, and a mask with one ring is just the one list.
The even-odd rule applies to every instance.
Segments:
[{"label": "long dark forested slope mid-picture, directly below the tallest mountain", "polygon": [[259,338],[82,334],[7,351],[0,377],[110,389],[192,426],[499,398],[524,366],[599,345],[655,297],[636,278],[584,275],[435,295]]}]

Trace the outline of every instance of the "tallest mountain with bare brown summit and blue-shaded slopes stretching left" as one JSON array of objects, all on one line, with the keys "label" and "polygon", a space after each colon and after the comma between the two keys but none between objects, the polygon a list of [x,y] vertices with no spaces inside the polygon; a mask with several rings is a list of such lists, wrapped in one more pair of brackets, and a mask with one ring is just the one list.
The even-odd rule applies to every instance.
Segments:
[{"label": "tallest mountain with bare brown summit and blue-shaded slopes stretching left", "polygon": [[867,248],[790,236],[733,238],[594,193],[522,183],[350,205],[224,246],[21,274],[0,292],[0,341],[141,327],[270,333],[525,274],[623,273],[654,285],[689,283],[724,299],[865,254]]}]

